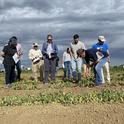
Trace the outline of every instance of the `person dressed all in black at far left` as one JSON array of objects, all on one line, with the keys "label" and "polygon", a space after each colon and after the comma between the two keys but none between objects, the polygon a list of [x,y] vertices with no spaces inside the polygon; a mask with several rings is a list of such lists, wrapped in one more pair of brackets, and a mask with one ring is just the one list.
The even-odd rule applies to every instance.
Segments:
[{"label": "person dressed all in black at far left", "polygon": [[4,58],[3,65],[5,68],[5,82],[7,86],[10,86],[15,81],[15,61],[13,56],[17,52],[16,50],[17,41],[10,38],[9,43],[4,46],[2,50],[2,56]]}]

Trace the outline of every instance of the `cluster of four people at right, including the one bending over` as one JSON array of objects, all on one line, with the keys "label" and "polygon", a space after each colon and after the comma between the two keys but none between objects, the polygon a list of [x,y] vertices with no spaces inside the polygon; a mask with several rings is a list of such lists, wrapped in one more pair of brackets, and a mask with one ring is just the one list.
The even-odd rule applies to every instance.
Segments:
[{"label": "cluster of four people at right, including the one bending over", "polygon": [[107,81],[110,82],[109,63],[109,46],[104,36],[99,36],[98,42],[90,49],[86,49],[84,43],[79,40],[79,35],[76,34],[70,47],[63,54],[64,79],[70,78],[72,71],[73,82],[81,81],[82,64],[84,64],[84,77],[90,76],[93,67],[96,85],[104,84],[103,67],[105,66]]}]

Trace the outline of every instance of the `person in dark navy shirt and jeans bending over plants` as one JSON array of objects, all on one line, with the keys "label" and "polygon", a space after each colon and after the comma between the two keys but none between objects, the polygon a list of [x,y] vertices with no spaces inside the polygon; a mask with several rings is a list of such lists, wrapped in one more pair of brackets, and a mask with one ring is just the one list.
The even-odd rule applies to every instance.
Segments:
[{"label": "person in dark navy shirt and jeans bending over plants", "polygon": [[[101,56],[101,59],[98,59],[98,54]],[[108,59],[108,52],[97,50],[97,49],[79,49],[77,51],[78,57],[84,58],[87,64],[87,71],[89,70],[89,67],[94,67],[94,75],[95,75],[95,82],[96,85],[103,84],[103,76],[102,76],[102,69],[104,64],[106,63]]]}]

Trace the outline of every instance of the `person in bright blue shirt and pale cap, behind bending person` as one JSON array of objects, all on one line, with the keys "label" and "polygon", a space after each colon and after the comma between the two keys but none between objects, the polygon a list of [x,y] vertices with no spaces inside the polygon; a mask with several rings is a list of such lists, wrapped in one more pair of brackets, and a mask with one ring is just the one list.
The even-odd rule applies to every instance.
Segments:
[{"label": "person in bright blue shirt and pale cap, behind bending person", "polygon": [[[94,44],[92,46],[92,48],[108,52],[108,54],[109,54],[109,45],[106,43],[106,39],[104,36],[98,36],[98,43]],[[98,58],[101,59],[101,56],[98,55]],[[110,82],[109,63],[110,63],[110,57],[108,57],[108,61],[104,65],[104,67],[106,69],[107,82]],[[102,78],[103,78],[103,83],[105,83],[103,70],[102,70]]]}]

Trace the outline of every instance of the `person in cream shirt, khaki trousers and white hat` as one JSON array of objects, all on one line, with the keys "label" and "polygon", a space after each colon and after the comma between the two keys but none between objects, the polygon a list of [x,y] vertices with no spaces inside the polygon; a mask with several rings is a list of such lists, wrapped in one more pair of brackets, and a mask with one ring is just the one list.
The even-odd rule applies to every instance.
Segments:
[{"label": "person in cream shirt, khaki trousers and white hat", "polygon": [[38,43],[33,43],[32,49],[29,51],[29,59],[32,61],[32,72],[35,81],[38,82],[38,77],[40,77],[40,81],[43,81],[44,61]]}]

